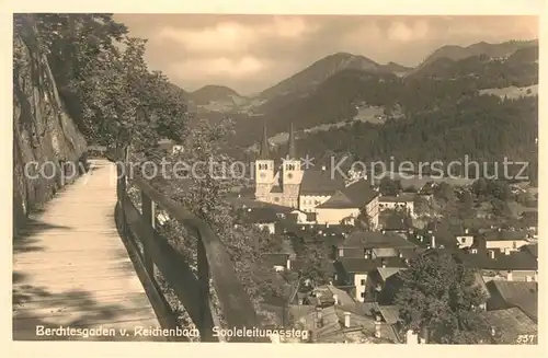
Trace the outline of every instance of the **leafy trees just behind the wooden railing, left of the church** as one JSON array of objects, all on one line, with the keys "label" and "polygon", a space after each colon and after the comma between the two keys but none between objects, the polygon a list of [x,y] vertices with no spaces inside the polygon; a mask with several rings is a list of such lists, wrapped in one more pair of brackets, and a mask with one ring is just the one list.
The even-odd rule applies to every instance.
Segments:
[{"label": "leafy trees just behind the wooden railing, left of the church", "polygon": [[[238,278],[259,310],[264,297],[285,297],[289,285],[265,264],[261,255],[279,246],[279,238],[254,226],[236,226],[237,212],[226,200],[230,189],[242,181],[241,173],[229,170],[231,158],[221,151],[230,131],[229,120],[216,126],[201,120],[193,136],[185,137],[182,143],[185,150],[169,159],[170,162],[186,163],[190,170],[180,175],[172,173],[172,177],[159,177],[152,183],[214,229],[235,264]],[[207,165],[193,165],[195,163]],[[170,165],[165,168],[171,174]],[[172,238],[187,259],[194,259],[196,238],[180,226],[171,227],[164,234]]]}]

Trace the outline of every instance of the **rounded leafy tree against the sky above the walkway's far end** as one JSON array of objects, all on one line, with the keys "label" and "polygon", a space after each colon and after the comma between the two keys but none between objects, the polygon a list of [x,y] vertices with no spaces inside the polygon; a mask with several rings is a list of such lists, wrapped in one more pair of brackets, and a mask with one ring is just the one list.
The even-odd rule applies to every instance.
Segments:
[{"label": "rounded leafy tree against the sky above the walkway's far end", "polygon": [[81,86],[88,136],[119,151],[150,153],[161,137],[182,140],[186,106],[160,72],[150,73],[145,41],[127,38],[119,58],[90,71]]}]

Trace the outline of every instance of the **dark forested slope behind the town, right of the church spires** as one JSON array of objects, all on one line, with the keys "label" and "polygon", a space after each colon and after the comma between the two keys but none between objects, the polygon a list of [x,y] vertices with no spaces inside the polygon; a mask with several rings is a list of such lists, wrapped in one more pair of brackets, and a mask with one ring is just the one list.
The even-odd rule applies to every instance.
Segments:
[{"label": "dark forested slope behind the town, right of the church spires", "polygon": [[537,99],[501,100],[472,96],[443,111],[308,135],[301,151],[352,153],[359,160],[530,160],[538,132]]}]

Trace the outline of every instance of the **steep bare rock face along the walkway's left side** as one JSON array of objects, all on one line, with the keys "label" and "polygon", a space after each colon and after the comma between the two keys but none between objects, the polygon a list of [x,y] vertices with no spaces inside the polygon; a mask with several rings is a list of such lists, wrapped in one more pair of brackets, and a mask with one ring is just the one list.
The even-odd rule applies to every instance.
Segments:
[{"label": "steep bare rock face along the walkway's left side", "polygon": [[76,177],[71,168],[81,166],[87,148],[59,100],[49,63],[34,34],[28,28],[13,39],[14,234],[30,210],[39,209],[71,176]]}]

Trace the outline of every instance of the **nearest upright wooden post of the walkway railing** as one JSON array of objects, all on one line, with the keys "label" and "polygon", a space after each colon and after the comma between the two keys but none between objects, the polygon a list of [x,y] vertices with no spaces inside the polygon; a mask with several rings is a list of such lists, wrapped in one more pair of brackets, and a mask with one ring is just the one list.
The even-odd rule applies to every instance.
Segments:
[{"label": "nearest upright wooden post of the walkway railing", "polygon": [[[198,234],[199,236],[199,234]],[[199,337],[202,342],[213,339],[213,317],[209,305],[209,264],[202,239],[197,244],[198,290],[199,290]]]}]

